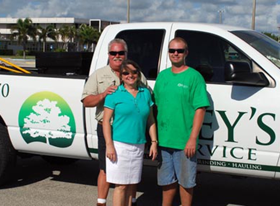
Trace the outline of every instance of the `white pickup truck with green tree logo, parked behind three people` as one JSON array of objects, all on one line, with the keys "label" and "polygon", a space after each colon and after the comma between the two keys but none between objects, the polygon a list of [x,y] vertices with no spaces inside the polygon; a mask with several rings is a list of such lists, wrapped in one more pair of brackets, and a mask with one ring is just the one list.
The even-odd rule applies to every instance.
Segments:
[{"label": "white pickup truck with green tree logo, parked behind three people", "polygon": [[86,75],[0,71],[0,183],[17,154],[97,159],[95,108],[84,108],[80,99],[86,77],[108,64],[108,42],[127,41],[128,58],[153,88],[158,73],[171,66],[167,50],[174,37],[188,42],[186,62],[204,76],[211,101],[198,169],[280,179],[280,44],[222,24],[145,22],[106,27]]}]

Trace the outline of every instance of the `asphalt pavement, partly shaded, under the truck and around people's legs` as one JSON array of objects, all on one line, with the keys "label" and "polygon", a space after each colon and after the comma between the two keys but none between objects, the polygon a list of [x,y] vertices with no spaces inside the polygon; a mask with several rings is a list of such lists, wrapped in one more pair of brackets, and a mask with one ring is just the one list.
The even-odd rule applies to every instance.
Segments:
[{"label": "asphalt pavement, partly shaded, under the truck and around people's legs", "polygon": [[[97,161],[50,165],[40,157],[19,159],[15,179],[0,187],[0,206],[95,206]],[[198,174],[194,206],[279,206],[280,182]],[[112,204],[112,190],[108,205]],[[156,168],[144,166],[138,186],[138,206],[160,206]],[[179,205],[178,197],[174,206]]]}]

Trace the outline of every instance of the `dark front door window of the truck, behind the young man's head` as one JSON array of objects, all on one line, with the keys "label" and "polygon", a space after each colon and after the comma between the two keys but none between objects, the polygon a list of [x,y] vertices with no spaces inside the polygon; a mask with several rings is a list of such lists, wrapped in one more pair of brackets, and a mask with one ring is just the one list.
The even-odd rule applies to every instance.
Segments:
[{"label": "dark front door window of the truck, behind the young man's head", "polygon": [[198,70],[206,82],[225,83],[226,61],[251,61],[229,42],[213,34],[177,30],[176,37],[188,42],[189,55],[186,64]]}]

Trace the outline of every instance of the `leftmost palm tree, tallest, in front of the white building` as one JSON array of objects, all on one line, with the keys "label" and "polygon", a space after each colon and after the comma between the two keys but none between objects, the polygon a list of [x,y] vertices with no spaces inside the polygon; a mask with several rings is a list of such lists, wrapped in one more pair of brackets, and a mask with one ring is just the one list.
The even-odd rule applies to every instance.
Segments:
[{"label": "leftmost palm tree, tallest, in front of the white building", "polygon": [[23,47],[23,59],[25,59],[25,50],[28,37],[31,37],[36,41],[37,28],[33,25],[32,21],[29,18],[24,20],[18,19],[17,24],[11,28],[11,38],[17,38],[19,43],[22,43]]}]

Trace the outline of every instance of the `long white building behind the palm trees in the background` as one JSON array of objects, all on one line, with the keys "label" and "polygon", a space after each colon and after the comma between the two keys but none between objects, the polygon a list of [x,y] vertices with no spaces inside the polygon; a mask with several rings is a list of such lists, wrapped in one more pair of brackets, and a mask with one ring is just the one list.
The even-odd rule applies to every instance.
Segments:
[{"label": "long white building behind the palm trees in the background", "polygon": [[[25,19],[25,18],[22,18]],[[75,28],[79,28],[80,25],[86,24],[90,25],[93,28],[97,29],[99,32],[102,32],[103,29],[109,24],[115,24],[119,22],[112,21],[103,21],[103,20],[89,20],[89,19],[79,19],[79,18],[30,18],[30,20],[35,25],[40,25],[42,28],[46,28],[48,25],[53,24],[56,29],[60,29],[64,25],[72,26]],[[15,54],[17,50],[22,50],[22,45],[18,43],[17,40],[11,41],[11,28],[13,25],[16,25],[18,18],[0,18],[0,50],[10,49],[13,50]],[[57,41],[53,41],[50,38],[46,40],[46,50],[52,51],[58,47],[58,45],[62,42],[61,38],[58,38]],[[67,45],[68,51],[79,51],[79,45],[77,42],[70,42]],[[28,40],[27,50],[29,52],[32,51],[43,51],[43,42],[39,42],[39,38],[37,42],[34,42],[32,39]]]}]

